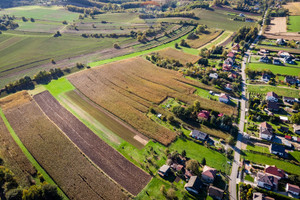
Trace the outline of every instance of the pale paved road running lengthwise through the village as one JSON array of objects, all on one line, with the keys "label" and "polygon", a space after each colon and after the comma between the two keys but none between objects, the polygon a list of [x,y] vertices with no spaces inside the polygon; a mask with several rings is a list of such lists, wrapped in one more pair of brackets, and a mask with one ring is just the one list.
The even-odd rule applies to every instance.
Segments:
[{"label": "pale paved road running lengthwise through the village", "polygon": [[[266,16],[266,14],[265,14]],[[263,19],[263,24],[265,22],[265,16]],[[263,26],[262,26],[263,27]],[[260,36],[262,35],[262,28],[258,33],[258,36],[256,37],[256,39],[254,40],[254,42],[252,43],[253,45],[257,43],[257,41],[259,40]],[[243,142],[243,132],[244,132],[244,125],[245,125],[245,115],[246,115],[246,73],[245,73],[245,69],[246,69],[246,63],[247,63],[247,59],[250,59],[250,50],[247,51],[247,54],[249,55],[249,57],[247,58],[246,56],[243,58],[243,62],[242,62],[242,98],[240,99],[241,102],[241,109],[240,109],[240,123],[239,123],[239,133],[238,133],[238,137],[237,137],[237,142],[235,147],[233,148],[235,153],[234,153],[234,161],[232,163],[232,171],[231,171],[231,175],[230,175],[230,181],[229,181],[229,193],[230,193],[230,199],[231,200],[238,200],[238,197],[236,196],[236,184],[240,182],[240,179],[238,177],[239,174],[239,163],[240,163],[240,157],[241,157],[241,148],[242,148],[242,142]],[[248,60],[249,61],[249,60]]]}]

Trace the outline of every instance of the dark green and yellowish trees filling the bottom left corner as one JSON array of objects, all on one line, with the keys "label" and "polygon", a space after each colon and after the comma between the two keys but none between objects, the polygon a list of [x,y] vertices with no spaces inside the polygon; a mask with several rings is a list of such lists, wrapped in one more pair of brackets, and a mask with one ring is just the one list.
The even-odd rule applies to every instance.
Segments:
[{"label": "dark green and yellowish trees filling the bottom left corner", "polygon": [[48,184],[39,174],[40,184],[23,188],[17,182],[13,172],[5,166],[0,166],[0,196],[6,200],[61,200],[57,187]]}]

